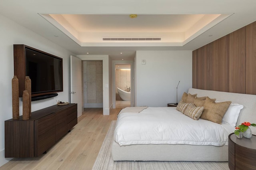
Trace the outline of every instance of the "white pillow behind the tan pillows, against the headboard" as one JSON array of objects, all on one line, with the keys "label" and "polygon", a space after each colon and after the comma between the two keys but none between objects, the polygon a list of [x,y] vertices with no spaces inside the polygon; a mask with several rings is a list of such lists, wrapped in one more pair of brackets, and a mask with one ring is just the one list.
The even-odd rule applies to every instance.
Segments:
[{"label": "white pillow behind the tan pillows, against the headboard", "polygon": [[239,117],[240,111],[244,108],[243,105],[237,103],[231,103],[226,111],[225,115],[222,118],[222,123],[227,123],[236,127],[236,122]]}]

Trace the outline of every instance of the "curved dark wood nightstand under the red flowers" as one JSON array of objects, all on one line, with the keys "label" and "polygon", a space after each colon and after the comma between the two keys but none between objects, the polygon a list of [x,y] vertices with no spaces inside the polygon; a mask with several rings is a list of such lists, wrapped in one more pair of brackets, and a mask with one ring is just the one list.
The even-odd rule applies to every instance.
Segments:
[{"label": "curved dark wood nightstand under the red flowers", "polygon": [[228,167],[230,170],[256,169],[256,136],[238,139],[234,133],[228,136]]}]

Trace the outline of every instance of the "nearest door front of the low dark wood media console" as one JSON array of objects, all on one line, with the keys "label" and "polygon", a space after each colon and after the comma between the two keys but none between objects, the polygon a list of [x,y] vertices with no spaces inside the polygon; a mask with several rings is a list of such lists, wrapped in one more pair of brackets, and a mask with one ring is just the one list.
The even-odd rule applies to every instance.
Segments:
[{"label": "nearest door front of the low dark wood media console", "polygon": [[55,144],[55,114],[35,121],[35,156],[39,156]]}]

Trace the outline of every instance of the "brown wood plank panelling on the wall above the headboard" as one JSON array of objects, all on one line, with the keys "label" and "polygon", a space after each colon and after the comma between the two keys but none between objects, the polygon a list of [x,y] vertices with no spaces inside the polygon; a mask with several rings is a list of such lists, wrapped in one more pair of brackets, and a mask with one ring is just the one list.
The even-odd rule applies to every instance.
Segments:
[{"label": "brown wood plank panelling on the wall above the headboard", "polygon": [[192,65],[193,88],[256,95],[256,22],[194,50]]}]

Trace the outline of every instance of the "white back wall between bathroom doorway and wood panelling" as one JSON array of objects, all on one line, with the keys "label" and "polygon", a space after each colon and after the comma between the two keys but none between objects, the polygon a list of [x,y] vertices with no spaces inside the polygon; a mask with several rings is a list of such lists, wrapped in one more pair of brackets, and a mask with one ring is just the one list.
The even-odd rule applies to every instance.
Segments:
[{"label": "white back wall between bathroom doorway and wood panelling", "polygon": [[[142,59],[146,64],[142,65]],[[136,51],[136,106],[166,107],[192,87],[192,51]]]}]

